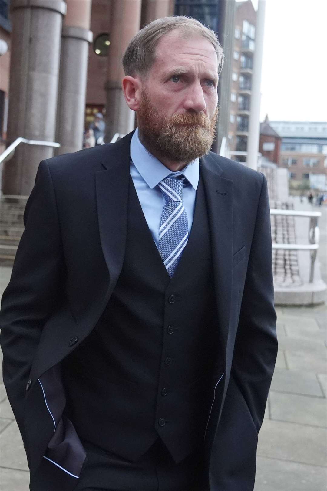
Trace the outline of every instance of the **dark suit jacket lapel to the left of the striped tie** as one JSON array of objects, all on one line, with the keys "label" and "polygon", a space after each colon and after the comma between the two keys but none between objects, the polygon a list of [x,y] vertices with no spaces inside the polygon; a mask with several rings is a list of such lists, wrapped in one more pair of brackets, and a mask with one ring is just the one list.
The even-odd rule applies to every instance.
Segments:
[{"label": "dark suit jacket lapel to the left of the striped tie", "polygon": [[131,134],[111,147],[110,163],[96,173],[97,212],[101,247],[109,271],[110,295],[122,270],[127,233]]}]

